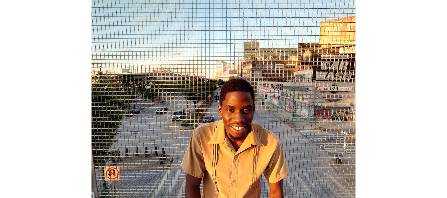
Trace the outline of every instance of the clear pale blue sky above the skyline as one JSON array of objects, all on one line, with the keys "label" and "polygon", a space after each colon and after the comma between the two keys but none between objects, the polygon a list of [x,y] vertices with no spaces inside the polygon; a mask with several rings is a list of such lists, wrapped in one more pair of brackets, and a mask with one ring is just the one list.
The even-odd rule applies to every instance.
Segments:
[{"label": "clear pale blue sky above the skyline", "polygon": [[245,41],[294,48],[299,42],[318,42],[320,21],[355,15],[353,0],[92,2],[96,68],[96,63],[102,67],[150,64],[151,69],[198,68],[200,72],[214,67],[216,59],[235,63],[243,56]]}]

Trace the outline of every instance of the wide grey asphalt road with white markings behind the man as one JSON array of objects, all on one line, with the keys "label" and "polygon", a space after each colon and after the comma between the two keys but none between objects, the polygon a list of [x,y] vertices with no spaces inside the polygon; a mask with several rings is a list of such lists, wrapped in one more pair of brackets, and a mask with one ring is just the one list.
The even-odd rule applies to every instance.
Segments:
[{"label": "wide grey asphalt road with white markings behind the man", "polygon": [[[144,108],[140,115],[123,119],[119,128],[121,132],[112,149],[125,153],[125,148],[128,148],[132,154],[135,152],[135,147],[139,147],[139,153],[142,153],[144,147],[151,148],[150,153],[154,152],[154,147],[159,150],[162,147],[174,156],[174,163],[170,169],[164,171],[123,172],[122,174],[127,175],[123,176],[117,185],[121,189],[117,197],[135,197],[136,194],[139,194],[136,197],[183,197],[185,173],[181,170],[180,163],[192,131],[179,130],[181,122],[171,121],[170,115],[177,109],[186,108],[187,105],[191,107],[184,97],[176,97]],[[155,114],[155,109],[160,106],[167,106],[169,112]],[[338,141],[334,138],[335,135],[329,139],[321,139],[322,131],[294,129],[266,113],[262,106],[257,107],[253,122],[270,129],[281,140],[290,169],[290,173],[284,179],[286,198],[355,197],[355,184],[339,175],[330,166],[333,163],[333,156],[325,150],[324,145],[335,145],[334,141]],[[221,119],[217,114],[217,102],[211,104],[207,114],[214,115],[215,120]],[[268,197],[268,183],[264,177],[261,178],[263,184],[261,195]]]}]

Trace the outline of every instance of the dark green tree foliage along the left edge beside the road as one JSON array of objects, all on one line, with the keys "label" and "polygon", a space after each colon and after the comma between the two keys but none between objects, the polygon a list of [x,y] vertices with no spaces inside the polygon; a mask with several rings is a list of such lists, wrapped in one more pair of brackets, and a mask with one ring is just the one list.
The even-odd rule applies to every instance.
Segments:
[{"label": "dark green tree foliage along the left edge beside the road", "polygon": [[126,108],[145,93],[141,80],[131,76],[96,76],[92,83],[92,150],[95,167],[105,165],[107,151],[116,142]]}]

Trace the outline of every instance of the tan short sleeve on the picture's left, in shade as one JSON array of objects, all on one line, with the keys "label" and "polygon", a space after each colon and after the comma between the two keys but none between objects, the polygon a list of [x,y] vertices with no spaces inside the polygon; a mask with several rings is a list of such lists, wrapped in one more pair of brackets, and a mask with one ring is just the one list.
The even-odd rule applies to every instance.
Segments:
[{"label": "tan short sleeve on the picture's left, in shade", "polygon": [[203,160],[202,146],[199,134],[194,131],[191,135],[190,145],[186,150],[185,157],[180,164],[181,168],[189,175],[201,178],[205,172],[205,161]]}]

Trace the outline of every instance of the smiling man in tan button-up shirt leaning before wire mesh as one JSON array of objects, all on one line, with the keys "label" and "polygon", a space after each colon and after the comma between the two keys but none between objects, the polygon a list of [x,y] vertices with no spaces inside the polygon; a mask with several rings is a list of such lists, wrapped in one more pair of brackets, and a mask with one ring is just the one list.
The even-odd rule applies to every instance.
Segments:
[{"label": "smiling man in tan button-up shirt leaning before wire mesh", "polygon": [[283,178],[289,173],[283,148],[278,136],[252,122],[254,110],[247,81],[223,84],[217,105],[222,120],[194,130],[181,162],[186,198],[260,198],[262,173],[269,181],[269,197],[283,197]]}]

